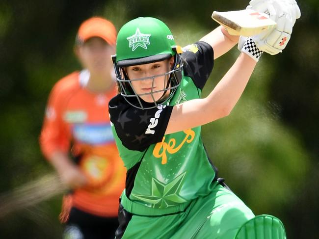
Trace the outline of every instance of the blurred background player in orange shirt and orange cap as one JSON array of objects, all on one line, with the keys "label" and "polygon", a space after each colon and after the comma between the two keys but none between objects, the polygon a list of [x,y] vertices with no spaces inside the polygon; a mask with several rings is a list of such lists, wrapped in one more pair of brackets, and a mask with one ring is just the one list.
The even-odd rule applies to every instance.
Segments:
[{"label": "blurred background player in orange shirt and orange cap", "polygon": [[75,52],[83,70],[54,85],[46,108],[41,149],[71,189],[60,214],[67,239],[114,239],[118,227],[126,170],[106,110],[117,93],[111,60],[116,34],[103,18],[81,24]]}]

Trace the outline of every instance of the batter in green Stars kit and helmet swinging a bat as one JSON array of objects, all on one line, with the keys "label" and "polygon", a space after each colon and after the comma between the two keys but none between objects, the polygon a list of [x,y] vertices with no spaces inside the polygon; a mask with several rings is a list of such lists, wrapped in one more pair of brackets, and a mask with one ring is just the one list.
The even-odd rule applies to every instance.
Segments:
[{"label": "batter in green Stars kit and helmet swinging a bat", "polygon": [[[284,12],[274,12],[278,2]],[[251,1],[251,7],[267,4],[264,12],[271,8],[275,20],[285,16],[292,29],[300,14],[295,1],[272,3]],[[116,239],[286,238],[278,218],[255,216],[218,178],[200,136],[201,125],[230,114],[262,49],[282,51],[282,34],[289,32],[278,26],[269,37],[242,39],[234,65],[200,99],[214,59],[239,37],[217,27],[181,49],[155,18],[136,18],[120,29],[113,56],[120,94],[109,102],[109,113],[128,172]]]}]

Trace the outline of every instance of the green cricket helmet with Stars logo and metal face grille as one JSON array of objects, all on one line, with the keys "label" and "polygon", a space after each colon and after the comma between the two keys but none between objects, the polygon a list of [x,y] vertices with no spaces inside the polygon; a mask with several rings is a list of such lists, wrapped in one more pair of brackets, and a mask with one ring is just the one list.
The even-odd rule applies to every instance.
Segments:
[{"label": "green cricket helmet with Stars logo and metal face grille", "polygon": [[[118,32],[116,55],[112,56],[119,92],[129,104],[141,109],[154,108],[159,104],[167,103],[174,95],[183,76],[181,54],[182,49],[176,46],[170,29],[159,19],[140,17],[128,22]],[[152,83],[151,92],[138,95],[124,67],[162,61],[171,56],[174,56],[174,64],[172,69],[168,68],[166,73],[147,78],[133,79],[134,81],[150,79],[154,81],[156,77],[165,76],[167,84],[163,86],[163,89],[153,90]],[[169,91],[169,96],[164,97],[167,91]],[[153,94],[159,92],[163,94],[156,101]],[[154,104],[144,102],[140,98],[142,95],[151,95]]]}]

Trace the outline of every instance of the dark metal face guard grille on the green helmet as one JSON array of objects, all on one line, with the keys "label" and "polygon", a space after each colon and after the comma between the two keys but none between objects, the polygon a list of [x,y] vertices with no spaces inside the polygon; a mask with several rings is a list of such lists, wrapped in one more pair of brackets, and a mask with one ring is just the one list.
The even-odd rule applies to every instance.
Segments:
[{"label": "dark metal face guard grille on the green helmet", "polygon": [[[116,55],[112,56],[119,92],[130,105],[140,109],[155,108],[159,104],[163,105],[169,102],[169,100],[173,97],[176,91],[176,88],[180,85],[181,79],[183,77],[182,75],[183,64],[181,60],[181,50],[180,49],[177,50],[177,48],[180,48],[180,47],[173,47],[173,48],[174,48],[173,51],[175,51],[176,54],[174,56],[174,63],[173,63],[172,69],[169,70],[169,66],[167,66],[167,72],[164,74],[156,75],[152,77],[138,78],[133,80],[129,79],[129,77],[127,76],[124,70],[124,67],[131,66],[131,65],[125,65],[120,67],[116,63]],[[180,53],[177,53],[177,51],[179,51]],[[169,55],[168,57],[171,57],[171,55]],[[153,62],[145,62],[144,64],[147,64],[147,63],[153,63]],[[162,77],[162,76],[164,76],[162,89],[154,90],[153,87],[154,87],[155,78]],[[151,91],[149,93],[137,94],[137,92],[133,88],[132,81],[150,80],[150,79],[152,80]],[[167,97],[164,97],[167,91],[169,91],[169,95]],[[156,93],[162,93],[159,100],[156,100],[154,97],[154,94]],[[150,95],[153,99],[153,103],[145,102],[140,98],[141,96],[145,96],[145,95]]]}]

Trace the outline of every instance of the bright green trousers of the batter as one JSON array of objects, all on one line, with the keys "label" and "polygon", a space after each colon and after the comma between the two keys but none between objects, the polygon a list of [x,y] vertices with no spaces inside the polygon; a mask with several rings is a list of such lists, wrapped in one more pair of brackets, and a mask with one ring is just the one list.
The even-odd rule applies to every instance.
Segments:
[{"label": "bright green trousers of the batter", "polygon": [[133,215],[122,239],[233,239],[240,226],[254,216],[232,191],[216,185],[184,212]]}]

